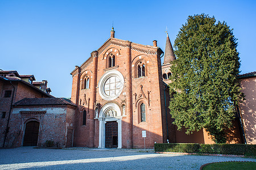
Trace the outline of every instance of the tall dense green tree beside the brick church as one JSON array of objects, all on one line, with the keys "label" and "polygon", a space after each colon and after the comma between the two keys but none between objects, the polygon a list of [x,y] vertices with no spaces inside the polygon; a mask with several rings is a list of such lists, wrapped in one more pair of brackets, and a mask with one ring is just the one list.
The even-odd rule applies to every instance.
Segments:
[{"label": "tall dense green tree beside the brick church", "polygon": [[216,143],[226,143],[225,129],[241,99],[236,76],[240,58],[233,29],[208,15],[188,16],[174,43],[170,110],[178,130],[202,128]]}]

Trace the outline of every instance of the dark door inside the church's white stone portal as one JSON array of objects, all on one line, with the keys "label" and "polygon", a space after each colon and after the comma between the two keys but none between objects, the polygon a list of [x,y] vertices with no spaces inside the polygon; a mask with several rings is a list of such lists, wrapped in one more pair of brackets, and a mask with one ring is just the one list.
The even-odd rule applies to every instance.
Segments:
[{"label": "dark door inside the church's white stone portal", "polygon": [[118,124],[117,121],[106,122],[105,147],[117,148],[118,146]]}]

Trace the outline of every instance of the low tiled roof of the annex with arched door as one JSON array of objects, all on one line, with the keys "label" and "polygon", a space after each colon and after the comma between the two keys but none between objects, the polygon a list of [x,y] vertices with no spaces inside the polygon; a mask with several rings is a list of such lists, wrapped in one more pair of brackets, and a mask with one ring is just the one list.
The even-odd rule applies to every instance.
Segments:
[{"label": "low tiled roof of the annex with arched door", "polygon": [[14,105],[24,106],[24,105],[73,105],[75,104],[63,100],[61,98],[24,98],[17,101]]}]

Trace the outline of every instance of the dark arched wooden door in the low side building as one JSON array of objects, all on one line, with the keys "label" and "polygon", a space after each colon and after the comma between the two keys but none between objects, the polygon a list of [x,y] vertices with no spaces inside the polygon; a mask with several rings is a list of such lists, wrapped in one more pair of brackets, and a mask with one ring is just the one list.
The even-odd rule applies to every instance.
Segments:
[{"label": "dark arched wooden door in the low side building", "polygon": [[23,146],[37,146],[38,145],[38,132],[39,132],[39,122],[30,121],[27,122]]}]

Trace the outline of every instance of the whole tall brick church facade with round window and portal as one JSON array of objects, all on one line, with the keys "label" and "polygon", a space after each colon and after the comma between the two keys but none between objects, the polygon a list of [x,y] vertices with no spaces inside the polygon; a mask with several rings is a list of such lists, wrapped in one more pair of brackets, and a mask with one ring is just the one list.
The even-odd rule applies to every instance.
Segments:
[{"label": "whole tall brick church facade with round window and portal", "polygon": [[144,147],[146,131],[146,147],[154,147],[175,134],[166,121],[162,54],[156,41],[150,46],[115,39],[112,29],[110,38],[76,66],[71,73],[71,101],[79,106],[75,146]]}]

